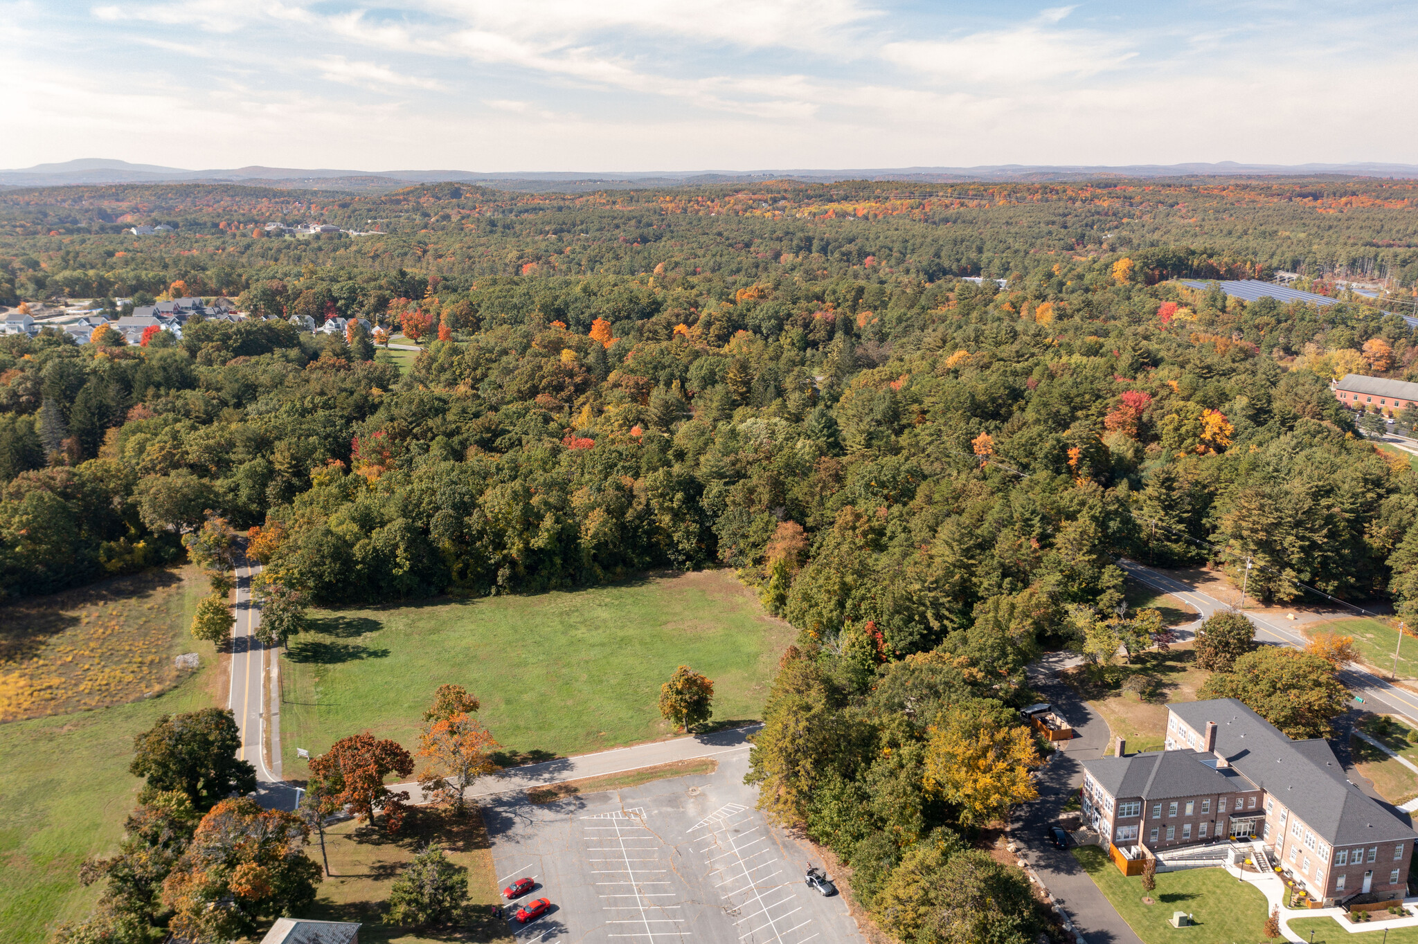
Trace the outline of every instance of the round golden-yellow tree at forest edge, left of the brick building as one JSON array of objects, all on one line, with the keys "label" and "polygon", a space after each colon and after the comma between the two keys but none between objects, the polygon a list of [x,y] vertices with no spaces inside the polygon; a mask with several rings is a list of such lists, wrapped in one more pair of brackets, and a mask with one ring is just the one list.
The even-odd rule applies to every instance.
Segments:
[{"label": "round golden-yellow tree at forest edge, left of the brick building", "polygon": [[984,826],[1038,797],[1029,781],[1038,765],[1034,737],[1010,712],[966,702],[930,729],[925,784],[960,811],[961,825]]}]

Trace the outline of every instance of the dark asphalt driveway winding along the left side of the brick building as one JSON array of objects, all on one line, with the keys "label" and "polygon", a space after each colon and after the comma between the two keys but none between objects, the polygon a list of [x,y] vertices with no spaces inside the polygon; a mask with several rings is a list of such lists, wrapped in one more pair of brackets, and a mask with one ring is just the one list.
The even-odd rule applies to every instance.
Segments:
[{"label": "dark asphalt driveway winding along the left side of the brick building", "polygon": [[1025,848],[1025,859],[1088,944],[1141,944],[1073,855],[1045,839],[1069,795],[1083,782],[1082,763],[1102,757],[1109,740],[1107,721],[1059,682],[1056,672],[1064,659],[1062,655],[1039,659],[1029,669],[1029,685],[1064,716],[1075,737],[1062,741],[1064,750],[1039,772],[1035,781],[1039,798],[1015,812],[1011,836]]}]

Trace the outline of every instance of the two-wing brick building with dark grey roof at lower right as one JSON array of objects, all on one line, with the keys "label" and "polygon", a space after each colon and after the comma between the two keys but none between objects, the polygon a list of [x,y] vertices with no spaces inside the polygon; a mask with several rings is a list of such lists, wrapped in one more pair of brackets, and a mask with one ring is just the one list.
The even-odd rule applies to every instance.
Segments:
[{"label": "two-wing brick building with dark grey roof at lower right", "polygon": [[1166,750],[1083,764],[1083,816],[1120,849],[1259,841],[1326,904],[1405,894],[1407,824],[1344,778],[1323,738],[1295,741],[1235,699],[1168,706]]}]

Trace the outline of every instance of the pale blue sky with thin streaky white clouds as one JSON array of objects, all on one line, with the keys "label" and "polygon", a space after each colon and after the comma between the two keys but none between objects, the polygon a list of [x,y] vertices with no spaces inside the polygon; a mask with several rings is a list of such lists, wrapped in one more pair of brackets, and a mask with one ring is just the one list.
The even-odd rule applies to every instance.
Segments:
[{"label": "pale blue sky with thin streaky white clouds", "polygon": [[1418,163],[1418,4],[0,0],[0,167]]}]

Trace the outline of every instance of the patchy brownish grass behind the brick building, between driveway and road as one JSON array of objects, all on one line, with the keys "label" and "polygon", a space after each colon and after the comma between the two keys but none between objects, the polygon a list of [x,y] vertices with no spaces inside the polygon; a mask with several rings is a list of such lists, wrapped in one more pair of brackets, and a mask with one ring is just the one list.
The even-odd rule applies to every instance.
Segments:
[{"label": "patchy brownish grass behind the brick building, between driveway and road", "polygon": [[[1069,673],[1071,685],[1107,721],[1115,737],[1127,738],[1127,751],[1161,750],[1167,740],[1167,704],[1195,702],[1211,675],[1195,668],[1191,644],[1168,652],[1144,652],[1132,665],[1107,666],[1090,678]],[[1112,751],[1112,747],[1109,747]]]}]

